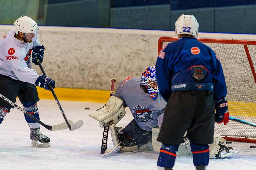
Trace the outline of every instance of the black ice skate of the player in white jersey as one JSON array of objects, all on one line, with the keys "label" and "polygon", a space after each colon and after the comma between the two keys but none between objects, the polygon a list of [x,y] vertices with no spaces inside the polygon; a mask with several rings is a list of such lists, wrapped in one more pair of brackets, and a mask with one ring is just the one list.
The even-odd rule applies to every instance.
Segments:
[{"label": "black ice skate of the player in white jersey", "polygon": [[[40,132],[40,128],[30,129],[30,139],[32,140],[31,144],[33,146],[44,148],[48,148],[51,146],[51,139],[47,136],[44,136],[44,134]],[[40,142],[41,144],[37,142]]]}]

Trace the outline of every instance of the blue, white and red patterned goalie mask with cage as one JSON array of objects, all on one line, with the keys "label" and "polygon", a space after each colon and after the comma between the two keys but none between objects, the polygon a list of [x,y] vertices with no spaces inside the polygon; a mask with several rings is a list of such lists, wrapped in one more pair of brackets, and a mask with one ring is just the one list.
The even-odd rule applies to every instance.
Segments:
[{"label": "blue, white and red patterned goalie mask with cage", "polygon": [[156,99],[158,96],[158,86],[156,82],[156,67],[148,67],[144,73],[141,74],[141,82],[148,90],[150,97]]}]

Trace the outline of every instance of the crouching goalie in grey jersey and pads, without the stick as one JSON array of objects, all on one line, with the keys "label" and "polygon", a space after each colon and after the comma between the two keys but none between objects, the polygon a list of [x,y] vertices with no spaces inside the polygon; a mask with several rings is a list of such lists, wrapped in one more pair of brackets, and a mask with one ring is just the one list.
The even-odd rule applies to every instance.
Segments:
[{"label": "crouching goalie in grey jersey and pads, without the stick", "polygon": [[[127,77],[120,82],[116,92],[108,102],[90,116],[100,122],[100,127],[110,123],[109,129],[117,152],[144,152],[152,149],[159,152],[161,143],[156,141],[161,125],[165,100],[158,94],[156,68],[149,67],[141,78]],[[125,127],[116,127],[124,117],[124,107],[129,107],[134,119]],[[153,134],[152,134],[153,133]],[[214,136],[210,144],[210,158],[224,158],[237,153],[233,148],[224,145],[225,139]],[[184,135],[179,156],[192,156],[189,139]]]}]

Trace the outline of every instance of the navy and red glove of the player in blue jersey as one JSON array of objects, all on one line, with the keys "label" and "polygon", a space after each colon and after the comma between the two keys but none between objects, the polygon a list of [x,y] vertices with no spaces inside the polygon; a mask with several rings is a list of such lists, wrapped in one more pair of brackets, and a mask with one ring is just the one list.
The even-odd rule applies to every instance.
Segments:
[{"label": "navy and red glove of the player in blue jersey", "polygon": [[215,122],[224,122],[224,125],[226,125],[229,121],[228,101],[226,100],[226,98],[222,98],[221,100],[217,101],[215,109]]}]

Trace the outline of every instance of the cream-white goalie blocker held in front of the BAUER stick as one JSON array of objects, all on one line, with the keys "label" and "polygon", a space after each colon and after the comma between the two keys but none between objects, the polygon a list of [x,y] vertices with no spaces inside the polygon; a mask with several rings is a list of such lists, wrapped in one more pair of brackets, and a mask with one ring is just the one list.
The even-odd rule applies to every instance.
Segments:
[{"label": "cream-white goalie blocker held in front of the BAUER stick", "polygon": [[100,127],[103,127],[104,123],[113,121],[116,125],[125,115],[125,109],[123,106],[123,100],[116,96],[111,96],[106,104],[91,113],[93,119],[100,122]]}]

